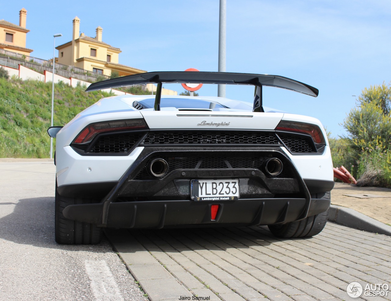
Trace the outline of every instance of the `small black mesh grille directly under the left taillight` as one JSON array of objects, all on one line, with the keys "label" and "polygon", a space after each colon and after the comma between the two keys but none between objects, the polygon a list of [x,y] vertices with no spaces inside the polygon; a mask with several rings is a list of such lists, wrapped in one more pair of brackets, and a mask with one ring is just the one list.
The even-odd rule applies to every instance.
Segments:
[{"label": "small black mesh grille directly under the left taillight", "polygon": [[145,133],[121,133],[100,136],[89,152],[91,153],[126,153]]}]

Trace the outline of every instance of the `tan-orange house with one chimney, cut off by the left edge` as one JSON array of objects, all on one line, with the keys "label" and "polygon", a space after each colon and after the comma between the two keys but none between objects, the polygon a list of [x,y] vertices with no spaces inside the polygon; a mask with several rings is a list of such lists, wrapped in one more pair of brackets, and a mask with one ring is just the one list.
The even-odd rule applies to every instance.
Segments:
[{"label": "tan-orange house with one chimney, cut off by the left edge", "polygon": [[32,49],[26,48],[27,11],[22,8],[19,11],[19,26],[11,22],[0,20],[0,48],[17,52],[23,55],[30,55]]}]

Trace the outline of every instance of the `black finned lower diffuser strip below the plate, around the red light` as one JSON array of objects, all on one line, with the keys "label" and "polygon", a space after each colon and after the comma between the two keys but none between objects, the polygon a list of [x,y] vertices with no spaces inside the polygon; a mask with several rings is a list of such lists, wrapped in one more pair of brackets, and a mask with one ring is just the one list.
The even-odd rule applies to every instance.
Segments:
[{"label": "black finned lower diffuser strip below the plate, around the red light", "polygon": [[[219,204],[216,220],[210,217],[210,206]],[[306,216],[325,212],[330,199],[311,199],[306,216],[302,216],[305,198],[239,199],[235,201],[142,201],[70,205],[63,211],[65,218],[101,227],[163,228],[185,225],[271,225],[296,221]],[[107,222],[102,224],[102,212]]]}]

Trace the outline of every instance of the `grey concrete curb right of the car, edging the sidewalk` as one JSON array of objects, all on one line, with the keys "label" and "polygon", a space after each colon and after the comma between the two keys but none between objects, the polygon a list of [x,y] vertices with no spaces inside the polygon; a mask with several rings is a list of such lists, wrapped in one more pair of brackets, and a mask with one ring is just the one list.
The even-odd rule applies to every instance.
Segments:
[{"label": "grey concrete curb right of the car, edging the sidewalk", "polygon": [[391,226],[350,208],[331,205],[328,220],[351,228],[391,236]]}]

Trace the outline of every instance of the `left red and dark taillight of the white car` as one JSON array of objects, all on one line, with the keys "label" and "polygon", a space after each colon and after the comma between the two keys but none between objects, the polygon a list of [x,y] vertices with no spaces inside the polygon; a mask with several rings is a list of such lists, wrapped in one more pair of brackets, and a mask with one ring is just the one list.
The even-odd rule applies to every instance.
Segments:
[{"label": "left red and dark taillight of the white car", "polygon": [[148,129],[144,119],[113,120],[91,123],[84,127],[83,131],[77,135],[73,143],[82,144],[91,142],[96,135],[104,132],[129,131],[138,129]]}]

